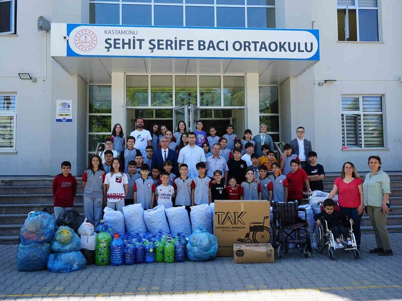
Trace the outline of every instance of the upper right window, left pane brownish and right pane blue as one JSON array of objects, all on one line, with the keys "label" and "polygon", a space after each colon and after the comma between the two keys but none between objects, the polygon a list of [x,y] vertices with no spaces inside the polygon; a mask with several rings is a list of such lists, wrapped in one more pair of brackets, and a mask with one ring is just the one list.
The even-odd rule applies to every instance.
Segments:
[{"label": "upper right window, left pane brownish and right pane blue", "polygon": [[338,0],[338,41],[379,41],[378,0]]}]

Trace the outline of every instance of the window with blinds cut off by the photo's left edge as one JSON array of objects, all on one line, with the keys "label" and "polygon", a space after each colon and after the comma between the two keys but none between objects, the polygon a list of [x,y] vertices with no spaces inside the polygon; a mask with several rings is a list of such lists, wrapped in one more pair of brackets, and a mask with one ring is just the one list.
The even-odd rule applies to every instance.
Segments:
[{"label": "window with blinds cut off by the photo's left edge", "polygon": [[0,94],[0,152],[16,149],[16,100],[15,94]]}]

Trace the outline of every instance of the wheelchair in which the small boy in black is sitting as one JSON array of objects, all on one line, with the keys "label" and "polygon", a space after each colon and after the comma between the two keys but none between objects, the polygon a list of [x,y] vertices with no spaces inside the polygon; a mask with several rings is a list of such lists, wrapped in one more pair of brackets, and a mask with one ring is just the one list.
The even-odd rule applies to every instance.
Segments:
[{"label": "wheelchair in which the small boy in black is sitting", "polygon": [[[324,210],[324,208],[321,205],[321,211]],[[339,211],[339,206],[335,206],[335,210]],[[353,252],[353,256],[356,259],[360,258],[360,250],[357,248],[357,243],[355,239],[355,235],[353,233],[353,227],[352,227],[352,222],[348,220],[349,225],[347,228],[349,229],[349,234],[350,234],[350,239],[352,240],[352,247],[347,247],[348,242],[345,237],[343,237],[343,234],[339,236],[339,239],[341,240],[341,243],[345,245],[344,250],[345,252]],[[318,226],[317,223],[314,224],[313,226],[313,244],[314,247],[316,248],[318,253],[322,253],[324,250],[324,247],[328,247],[328,257],[333,260],[335,256],[335,246],[338,245],[338,243],[335,240],[334,234],[332,233],[331,229],[328,228],[328,224],[326,220],[321,220],[321,226]]]}]

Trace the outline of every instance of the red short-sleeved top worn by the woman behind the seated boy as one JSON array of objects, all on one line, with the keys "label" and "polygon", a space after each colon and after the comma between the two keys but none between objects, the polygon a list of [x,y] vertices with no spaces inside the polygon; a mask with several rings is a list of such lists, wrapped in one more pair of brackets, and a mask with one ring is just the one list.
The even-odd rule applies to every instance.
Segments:
[{"label": "red short-sleeved top worn by the woman behind the seated boy", "polygon": [[341,177],[335,180],[338,187],[338,204],[341,207],[357,208],[360,206],[360,192],[358,186],[363,181],[360,178],[354,178],[352,182],[345,183]]}]

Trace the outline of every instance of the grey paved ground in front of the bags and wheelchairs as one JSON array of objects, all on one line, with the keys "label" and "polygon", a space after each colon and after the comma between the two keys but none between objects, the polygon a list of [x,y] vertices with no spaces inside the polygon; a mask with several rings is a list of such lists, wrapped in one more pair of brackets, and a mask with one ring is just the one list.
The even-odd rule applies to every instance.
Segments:
[{"label": "grey paved ground in front of the bags and wheelchairs", "polygon": [[394,256],[369,254],[373,235],[363,235],[360,260],[351,253],[304,258],[297,250],[275,263],[210,262],[87,266],[71,273],[19,272],[17,246],[0,246],[0,299],[90,300],[368,300],[402,299],[402,233],[390,234]]}]

